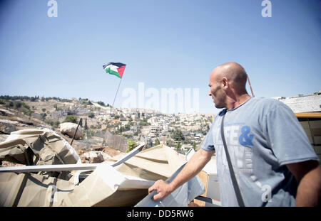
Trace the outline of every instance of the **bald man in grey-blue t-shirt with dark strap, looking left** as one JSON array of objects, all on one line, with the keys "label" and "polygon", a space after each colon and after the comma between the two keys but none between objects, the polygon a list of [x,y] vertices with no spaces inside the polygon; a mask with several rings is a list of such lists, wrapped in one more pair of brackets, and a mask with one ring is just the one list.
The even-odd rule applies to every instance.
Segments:
[{"label": "bald man in grey-blue t-shirt with dark strap, looking left", "polygon": [[245,206],[316,206],[321,193],[321,168],[295,114],[276,99],[250,97],[247,74],[238,63],[225,63],[210,74],[210,97],[224,108],[203,144],[171,183],[158,180],[148,192],[154,200],[172,193],[196,176],[216,152],[220,200],[239,206],[223,146],[220,126]]}]

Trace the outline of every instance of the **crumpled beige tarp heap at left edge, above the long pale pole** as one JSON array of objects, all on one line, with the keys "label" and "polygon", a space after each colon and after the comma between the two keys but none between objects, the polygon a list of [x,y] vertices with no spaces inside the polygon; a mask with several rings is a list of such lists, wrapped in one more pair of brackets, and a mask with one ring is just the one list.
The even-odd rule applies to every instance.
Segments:
[{"label": "crumpled beige tarp heap at left edge, above the long pale pole", "polygon": [[50,129],[24,129],[11,132],[0,143],[0,161],[30,165],[81,163],[75,149]]}]

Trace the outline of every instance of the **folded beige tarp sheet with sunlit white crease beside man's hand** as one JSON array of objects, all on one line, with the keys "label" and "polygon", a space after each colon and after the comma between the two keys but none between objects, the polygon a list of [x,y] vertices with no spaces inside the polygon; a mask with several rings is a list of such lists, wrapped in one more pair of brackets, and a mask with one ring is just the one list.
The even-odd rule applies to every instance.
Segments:
[{"label": "folded beige tarp sheet with sunlit white crease beside man's hand", "polygon": [[112,167],[123,156],[101,163],[85,180],[68,193],[62,206],[134,206],[148,195],[158,179],[170,177],[185,161],[185,156],[165,145],[137,153]]}]

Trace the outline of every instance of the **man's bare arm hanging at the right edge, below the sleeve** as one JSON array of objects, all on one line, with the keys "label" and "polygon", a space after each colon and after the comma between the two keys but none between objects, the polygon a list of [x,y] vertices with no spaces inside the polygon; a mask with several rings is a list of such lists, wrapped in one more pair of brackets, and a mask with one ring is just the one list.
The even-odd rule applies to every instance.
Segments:
[{"label": "man's bare arm hanging at the right edge, below the sleeve", "polygon": [[297,180],[295,206],[317,206],[321,198],[321,168],[317,161],[287,164]]}]

